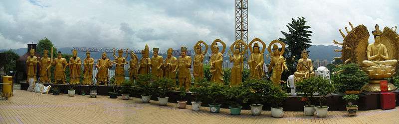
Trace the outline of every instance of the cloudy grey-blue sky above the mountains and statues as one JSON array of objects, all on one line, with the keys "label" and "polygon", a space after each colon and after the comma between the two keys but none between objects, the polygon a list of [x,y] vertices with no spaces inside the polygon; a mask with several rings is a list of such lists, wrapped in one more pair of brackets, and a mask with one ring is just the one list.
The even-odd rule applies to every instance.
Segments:
[{"label": "cloudy grey-blue sky above the mountains and statues", "polygon": [[[0,0],[0,49],[47,37],[56,47],[191,48],[234,40],[235,0]],[[283,37],[306,17],[315,45],[342,41],[338,28],[398,25],[398,0],[248,0],[249,39]],[[381,28],[382,29],[382,28]]]}]

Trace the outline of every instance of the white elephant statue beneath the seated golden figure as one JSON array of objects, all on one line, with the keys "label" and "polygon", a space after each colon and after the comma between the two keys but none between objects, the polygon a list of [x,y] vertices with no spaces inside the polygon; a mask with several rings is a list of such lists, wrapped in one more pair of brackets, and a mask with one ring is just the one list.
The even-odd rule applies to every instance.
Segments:
[{"label": "white elephant statue beneath the seated golden figure", "polygon": [[[324,78],[327,78],[331,83],[330,70],[325,66],[318,67],[315,71],[315,76],[322,76]],[[297,96],[294,74],[288,76],[287,87],[291,89],[291,96]],[[317,94],[315,94],[315,95],[317,95]]]}]

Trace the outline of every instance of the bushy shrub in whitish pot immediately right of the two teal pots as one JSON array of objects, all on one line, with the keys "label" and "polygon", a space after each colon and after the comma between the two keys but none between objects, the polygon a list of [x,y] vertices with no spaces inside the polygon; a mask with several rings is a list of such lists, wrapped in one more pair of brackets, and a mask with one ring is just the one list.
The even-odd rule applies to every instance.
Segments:
[{"label": "bushy shrub in whitish pot immediately right of the two teal pots", "polygon": [[253,116],[259,116],[262,113],[263,105],[262,102],[266,101],[266,90],[271,86],[270,83],[266,83],[266,80],[247,80],[242,83],[243,87],[246,87],[248,91],[243,99],[243,102],[246,103],[250,101],[253,103],[250,105],[251,114]]}]

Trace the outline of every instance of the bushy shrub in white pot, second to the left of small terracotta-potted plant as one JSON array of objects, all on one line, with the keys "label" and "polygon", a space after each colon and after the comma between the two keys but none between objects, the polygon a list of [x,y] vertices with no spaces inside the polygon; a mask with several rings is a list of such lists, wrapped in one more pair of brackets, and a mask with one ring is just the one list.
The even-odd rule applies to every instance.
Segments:
[{"label": "bushy shrub in white pot, second to the left of small terracotta-potted plant", "polygon": [[139,74],[137,78],[137,90],[141,92],[141,99],[143,103],[150,102],[151,94],[154,91],[154,76],[152,74]]}]

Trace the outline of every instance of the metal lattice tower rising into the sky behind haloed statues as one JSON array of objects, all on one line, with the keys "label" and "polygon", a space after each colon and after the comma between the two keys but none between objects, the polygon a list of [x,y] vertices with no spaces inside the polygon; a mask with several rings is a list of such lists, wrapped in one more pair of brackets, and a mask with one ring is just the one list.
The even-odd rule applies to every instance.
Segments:
[{"label": "metal lattice tower rising into the sky behind haloed statues", "polygon": [[235,0],[235,40],[248,44],[248,0]]}]

